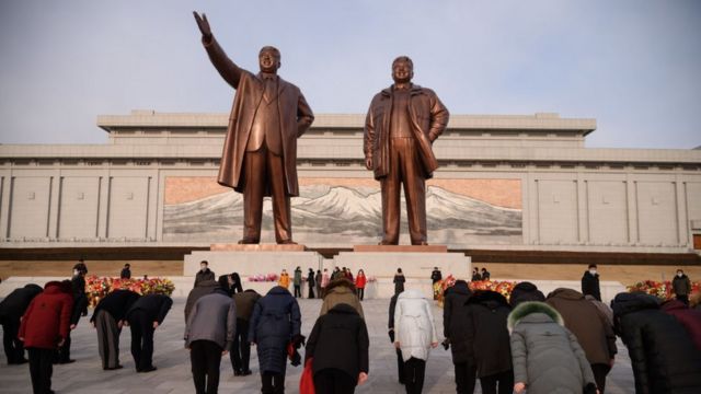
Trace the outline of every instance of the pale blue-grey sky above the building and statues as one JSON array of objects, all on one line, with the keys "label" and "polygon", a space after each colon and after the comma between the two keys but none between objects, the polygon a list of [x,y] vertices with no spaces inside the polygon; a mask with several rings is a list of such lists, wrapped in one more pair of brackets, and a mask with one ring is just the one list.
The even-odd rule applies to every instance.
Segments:
[{"label": "pale blue-grey sky above the building and statues", "polygon": [[2,0],[0,143],[103,143],[97,115],[225,113],[239,66],[283,54],[312,109],[365,113],[398,55],[452,114],[596,118],[593,148],[701,144],[701,1]]}]

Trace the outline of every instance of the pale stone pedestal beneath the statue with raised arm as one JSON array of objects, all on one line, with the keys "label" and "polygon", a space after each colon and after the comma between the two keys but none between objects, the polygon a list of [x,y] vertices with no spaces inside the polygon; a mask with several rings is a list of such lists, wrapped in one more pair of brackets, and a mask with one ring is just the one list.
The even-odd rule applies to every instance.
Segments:
[{"label": "pale stone pedestal beneath the statue with raised arm", "polygon": [[[303,245],[264,245],[276,246],[269,250],[255,250],[251,246],[258,245],[235,245],[245,246],[241,251],[195,251],[185,255],[183,264],[183,275],[194,276],[199,269],[199,263],[207,260],[209,269],[218,277],[223,274],[239,273],[242,277],[252,275],[279,275],[283,268],[291,276],[297,266],[302,268],[304,276],[309,268],[314,271],[321,268],[322,256],[317,252],[303,251]],[[290,252],[289,246],[302,247],[301,251]],[[245,280],[245,279],[244,279]]]}]

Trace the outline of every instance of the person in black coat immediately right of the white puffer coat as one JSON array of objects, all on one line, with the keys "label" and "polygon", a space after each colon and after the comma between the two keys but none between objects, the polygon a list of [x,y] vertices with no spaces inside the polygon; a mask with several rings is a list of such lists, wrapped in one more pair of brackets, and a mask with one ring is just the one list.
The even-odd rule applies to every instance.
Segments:
[{"label": "person in black coat immediately right of the white puffer coat", "polygon": [[476,368],[472,344],[468,341],[466,331],[466,327],[472,324],[466,305],[472,296],[472,290],[464,280],[456,280],[456,283],[446,290],[443,309],[443,335],[446,338],[444,344],[450,346],[452,352],[458,394],[472,394]]}]

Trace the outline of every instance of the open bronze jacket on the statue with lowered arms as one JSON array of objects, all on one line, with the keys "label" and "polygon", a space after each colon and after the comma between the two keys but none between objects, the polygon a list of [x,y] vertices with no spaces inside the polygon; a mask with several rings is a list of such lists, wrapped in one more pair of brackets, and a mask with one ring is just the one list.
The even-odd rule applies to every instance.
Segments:
[{"label": "open bronze jacket on the statue with lowered arms", "polygon": [[[430,89],[412,85],[409,114],[412,131],[416,139],[421,163],[426,178],[438,169],[432,143],[448,126],[450,114]],[[365,119],[365,141],[363,151],[366,159],[372,159],[375,178],[380,179],[389,173],[390,119],[392,117],[392,88],[382,90],[372,97],[370,109]]]}]

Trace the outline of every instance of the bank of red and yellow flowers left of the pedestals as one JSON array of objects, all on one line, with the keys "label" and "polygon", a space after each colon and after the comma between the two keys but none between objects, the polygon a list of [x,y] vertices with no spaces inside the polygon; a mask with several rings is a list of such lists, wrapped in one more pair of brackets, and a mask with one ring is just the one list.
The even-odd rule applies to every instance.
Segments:
[{"label": "bank of red and yellow flowers left of the pedestals", "polygon": [[85,278],[85,296],[90,306],[95,306],[100,300],[114,290],[131,290],[141,296],[165,294],[170,296],[175,290],[175,285],[170,279],[119,279],[97,277],[91,275]]}]

